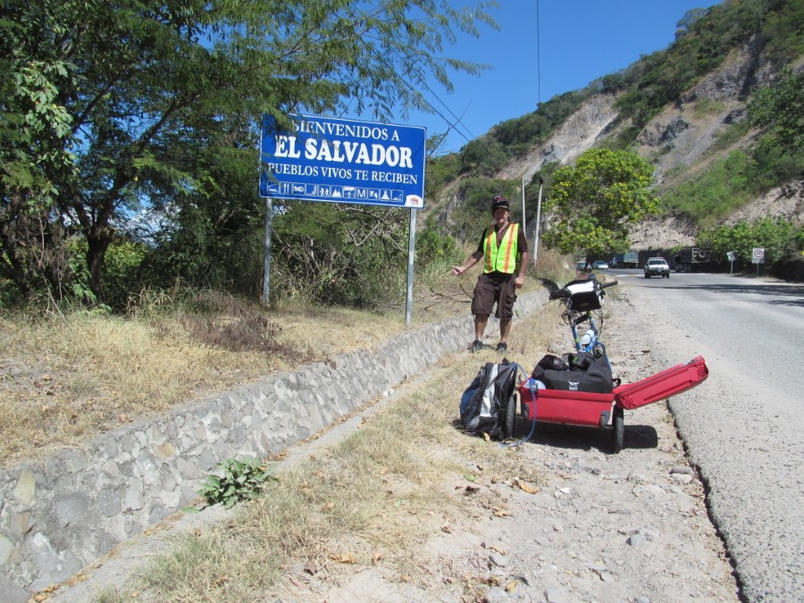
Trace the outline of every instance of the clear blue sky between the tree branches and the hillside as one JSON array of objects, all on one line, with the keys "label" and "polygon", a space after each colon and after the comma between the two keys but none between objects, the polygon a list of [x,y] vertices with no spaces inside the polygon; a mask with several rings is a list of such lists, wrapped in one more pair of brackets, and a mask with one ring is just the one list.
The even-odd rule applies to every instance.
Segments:
[{"label": "clear blue sky between the tree branches and the hillside", "polygon": [[[537,37],[537,2],[538,32]],[[458,5],[471,5],[464,1]],[[479,77],[454,74],[455,91],[432,85],[427,98],[440,113],[462,126],[450,133],[438,155],[460,150],[468,139],[485,134],[500,121],[535,111],[539,102],[583,88],[590,81],[623,69],[669,46],[676,23],[693,8],[712,0],[499,0],[490,11],[500,27],[482,26],[481,38],[466,36],[444,54],[489,63]],[[445,107],[446,105],[446,107]],[[398,121],[424,126],[427,135],[448,130],[439,115],[412,113]]]}]

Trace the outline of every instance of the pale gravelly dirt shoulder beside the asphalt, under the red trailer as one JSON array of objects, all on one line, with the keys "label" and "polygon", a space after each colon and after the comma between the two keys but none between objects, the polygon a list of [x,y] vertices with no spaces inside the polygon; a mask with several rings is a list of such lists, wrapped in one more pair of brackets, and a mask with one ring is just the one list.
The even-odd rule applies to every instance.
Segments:
[{"label": "pale gravelly dirt shoulder beside the asphalt, under the red trailer", "polygon": [[[610,306],[605,337],[623,381],[669,368],[653,364],[635,328],[641,314],[627,298]],[[529,431],[519,420],[515,434]],[[356,567],[332,583],[302,572],[272,594],[304,601],[739,600],[666,403],[626,411],[620,454],[609,452],[609,441],[607,431],[544,426],[509,448],[521,472],[540,474],[535,493],[527,491],[532,482],[515,479],[523,473],[484,474],[466,458],[467,471],[481,477],[450,476],[444,491],[473,500],[473,512],[410,551],[419,574],[400,579],[393,568]]]}]

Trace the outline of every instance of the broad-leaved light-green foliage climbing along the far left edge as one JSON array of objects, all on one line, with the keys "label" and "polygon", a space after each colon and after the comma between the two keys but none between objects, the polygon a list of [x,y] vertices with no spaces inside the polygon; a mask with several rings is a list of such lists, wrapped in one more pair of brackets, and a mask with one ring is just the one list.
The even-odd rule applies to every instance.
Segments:
[{"label": "broad-leaved light-green foliage climbing along the far left edge", "polygon": [[[25,31],[40,21],[25,21],[31,15],[21,5],[0,8],[0,276],[29,297],[42,277],[58,284],[69,272],[63,224],[52,210],[59,182],[73,172],[73,117],[59,98],[69,63],[54,44],[26,52]],[[54,38],[63,35],[55,25]]]}]

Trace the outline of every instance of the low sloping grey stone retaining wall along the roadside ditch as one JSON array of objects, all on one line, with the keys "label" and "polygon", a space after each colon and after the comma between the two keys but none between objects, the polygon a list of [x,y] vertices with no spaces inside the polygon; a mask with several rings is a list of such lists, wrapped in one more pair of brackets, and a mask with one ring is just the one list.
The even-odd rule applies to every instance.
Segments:
[{"label": "low sloping grey stone retaining wall along the roadside ditch", "polygon": [[[546,299],[520,296],[517,314]],[[490,320],[486,333],[497,330]],[[219,461],[305,440],[472,336],[471,315],[407,331],[375,353],[275,373],[0,472],[0,599],[24,601],[62,582],[195,500]]]}]

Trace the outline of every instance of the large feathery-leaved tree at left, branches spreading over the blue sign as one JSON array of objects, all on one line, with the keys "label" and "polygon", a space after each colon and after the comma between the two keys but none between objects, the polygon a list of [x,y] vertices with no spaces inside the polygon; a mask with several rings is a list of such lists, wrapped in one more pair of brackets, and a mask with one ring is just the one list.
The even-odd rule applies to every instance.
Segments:
[{"label": "large feathery-leaved tree at left, branches spreading over the blue sign", "polygon": [[[15,234],[15,215],[33,215],[41,230],[62,224],[86,239],[90,287],[103,300],[121,220],[146,204],[214,198],[233,180],[228,167],[255,165],[238,151],[255,149],[260,113],[387,119],[427,108],[419,90],[430,76],[450,88],[451,71],[479,71],[444,58],[444,46],[457,31],[494,26],[495,3],[450,4],[7,0],[0,128],[20,131],[0,152],[0,275],[24,287],[14,262],[36,272]],[[226,201],[256,203],[253,193]]]}]

